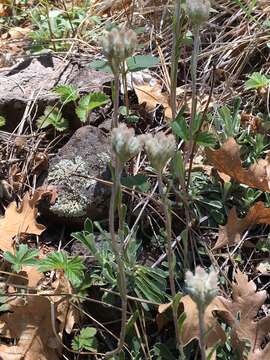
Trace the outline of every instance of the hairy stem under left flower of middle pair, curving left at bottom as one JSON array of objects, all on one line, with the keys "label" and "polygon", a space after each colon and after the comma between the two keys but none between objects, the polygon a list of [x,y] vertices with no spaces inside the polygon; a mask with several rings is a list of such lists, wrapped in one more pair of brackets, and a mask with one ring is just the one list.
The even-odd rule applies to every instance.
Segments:
[{"label": "hairy stem under left flower of middle pair, curving left at bottom", "polygon": [[117,348],[109,351],[105,354],[105,358],[111,357],[115,354],[118,354],[125,343],[125,335],[126,335],[126,322],[127,322],[127,283],[126,283],[126,274],[125,274],[125,266],[122,259],[122,250],[118,246],[117,242],[117,235],[115,233],[115,210],[118,208],[118,202],[121,199],[121,174],[122,174],[123,166],[120,164],[119,160],[116,158],[115,160],[115,174],[114,174],[114,181],[112,186],[112,194],[111,194],[111,201],[110,201],[110,210],[109,210],[109,228],[110,228],[110,235],[111,235],[111,245],[112,250],[115,256],[115,261],[117,264],[118,270],[118,286],[119,286],[119,293],[122,302],[122,311],[121,311],[121,331],[119,336],[119,341]]}]

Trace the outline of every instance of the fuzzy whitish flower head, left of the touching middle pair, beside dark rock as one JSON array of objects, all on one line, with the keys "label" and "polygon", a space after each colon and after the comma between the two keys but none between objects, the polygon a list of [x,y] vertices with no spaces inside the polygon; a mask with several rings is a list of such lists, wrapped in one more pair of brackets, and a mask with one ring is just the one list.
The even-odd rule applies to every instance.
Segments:
[{"label": "fuzzy whitish flower head, left of the touching middle pair, beside dark rock", "polygon": [[120,124],[112,130],[112,148],[122,164],[141,151],[141,136],[135,136],[134,129]]}]

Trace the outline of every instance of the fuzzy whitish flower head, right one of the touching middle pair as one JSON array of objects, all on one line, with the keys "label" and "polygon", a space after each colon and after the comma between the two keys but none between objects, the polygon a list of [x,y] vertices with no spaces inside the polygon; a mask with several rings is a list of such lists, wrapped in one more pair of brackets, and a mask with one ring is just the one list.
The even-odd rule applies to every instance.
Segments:
[{"label": "fuzzy whitish flower head, right one of the touching middle pair", "polygon": [[146,135],[144,146],[151,165],[160,172],[174,155],[176,143],[172,134],[166,135],[164,132],[159,132],[155,136]]}]

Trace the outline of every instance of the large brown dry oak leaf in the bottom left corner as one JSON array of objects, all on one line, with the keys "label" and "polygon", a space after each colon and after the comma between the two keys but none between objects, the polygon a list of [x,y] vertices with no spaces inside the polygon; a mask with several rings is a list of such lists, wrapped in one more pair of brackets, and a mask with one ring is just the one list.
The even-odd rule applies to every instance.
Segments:
[{"label": "large brown dry oak leaf in the bottom left corner", "polygon": [[1,338],[11,336],[16,345],[0,345],[2,360],[59,360],[61,346],[51,324],[50,301],[28,296],[27,303],[11,302],[11,311],[0,317]]}]

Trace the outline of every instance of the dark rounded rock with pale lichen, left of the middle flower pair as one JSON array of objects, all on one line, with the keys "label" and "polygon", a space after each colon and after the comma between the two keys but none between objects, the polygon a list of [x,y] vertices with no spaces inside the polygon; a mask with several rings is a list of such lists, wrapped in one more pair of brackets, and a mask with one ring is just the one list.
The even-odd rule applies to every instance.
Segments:
[{"label": "dark rounded rock with pale lichen, left of the middle flower pair", "polygon": [[110,186],[110,143],[93,126],[77,130],[49,165],[47,185],[56,187],[57,200],[50,213],[68,224],[81,224],[86,217],[107,217]]}]

